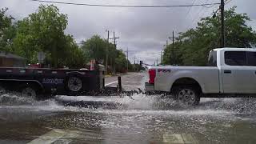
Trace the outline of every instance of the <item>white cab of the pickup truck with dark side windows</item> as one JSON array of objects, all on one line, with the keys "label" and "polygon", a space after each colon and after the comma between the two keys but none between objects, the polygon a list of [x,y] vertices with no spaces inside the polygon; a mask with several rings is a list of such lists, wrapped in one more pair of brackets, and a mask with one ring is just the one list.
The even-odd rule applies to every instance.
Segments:
[{"label": "white cab of the pickup truck with dark side windows", "polygon": [[256,94],[255,49],[215,49],[208,63],[218,67],[220,93]]}]

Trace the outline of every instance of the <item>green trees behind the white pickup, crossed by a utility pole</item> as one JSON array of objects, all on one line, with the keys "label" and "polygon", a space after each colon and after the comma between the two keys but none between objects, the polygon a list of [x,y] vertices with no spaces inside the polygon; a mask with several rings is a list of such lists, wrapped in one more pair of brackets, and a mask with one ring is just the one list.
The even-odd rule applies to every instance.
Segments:
[{"label": "green trees behind the white pickup, crossed by a utility pole", "polygon": [[[247,25],[250,18],[247,14],[237,14],[236,7],[225,11],[226,47],[254,47],[256,33]],[[163,53],[163,64],[178,66],[206,66],[210,50],[220,47],[221,17],[202,18],[196,28],[180,33],[174,45],[166,46]]]}]

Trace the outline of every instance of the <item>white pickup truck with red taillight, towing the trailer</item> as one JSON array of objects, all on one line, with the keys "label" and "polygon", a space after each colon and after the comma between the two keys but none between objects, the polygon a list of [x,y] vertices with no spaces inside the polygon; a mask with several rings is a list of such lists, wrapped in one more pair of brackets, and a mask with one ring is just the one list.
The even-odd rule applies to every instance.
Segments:
[{"label": "white pickup truck with red taillight, towing the trailer", "polygon": [[208,66],[150,66],[147,93],[170,93],[186,105],[200,98],[256,96],[256,49],[210,51]]}]

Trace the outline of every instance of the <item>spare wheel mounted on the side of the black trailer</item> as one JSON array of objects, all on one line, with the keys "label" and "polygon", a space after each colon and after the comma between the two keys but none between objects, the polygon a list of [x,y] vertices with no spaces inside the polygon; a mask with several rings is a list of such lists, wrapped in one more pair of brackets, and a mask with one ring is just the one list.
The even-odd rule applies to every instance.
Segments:
[{"label": "spare wheel mounted on the side of the black trailer", "polygon": [[70,92],[82,90],[82,79],[78,76],[70,76],[67,80],[67,89],[70,90]]}]

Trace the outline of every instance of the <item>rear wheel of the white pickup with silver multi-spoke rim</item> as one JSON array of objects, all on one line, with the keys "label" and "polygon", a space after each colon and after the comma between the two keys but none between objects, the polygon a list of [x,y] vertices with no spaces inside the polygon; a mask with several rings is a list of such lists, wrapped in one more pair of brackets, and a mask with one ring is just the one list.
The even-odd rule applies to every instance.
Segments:
[{"label": "rear wheel of the white pickup with silver multi-spoke rim", "polygon": [[174,98],[187,106],[197,106],[202,92],[193,86],[177,86],[174,88]]}]

